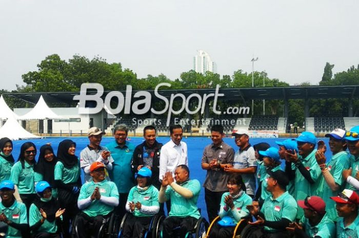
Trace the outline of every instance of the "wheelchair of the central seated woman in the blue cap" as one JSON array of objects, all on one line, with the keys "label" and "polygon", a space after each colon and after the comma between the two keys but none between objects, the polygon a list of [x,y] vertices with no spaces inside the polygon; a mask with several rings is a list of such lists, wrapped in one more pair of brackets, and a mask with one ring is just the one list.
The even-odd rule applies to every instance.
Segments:
[{"label": "wheelchair of the central seated woman in the blue cap", "polygon": [[[129,213],[126,213],[124,215],[124,217],[122,218],[121,224],[119,224],[119,227],[118,227],[117,236],[111,236],[111,237],[116,237],[116,238],[121,238],[122,237],[124,226],[125,226],[128,214]],[[143,234],[143,238],[157,238],[157,237],[159,237],[160,228],[161,228],[161,224],[162,224],[163,220],[165,220],[165,216],[163,214],[157,213],[157,214],[153,215],[153,217],[152,217],[152,219],[150,221],[148,229]]]}]

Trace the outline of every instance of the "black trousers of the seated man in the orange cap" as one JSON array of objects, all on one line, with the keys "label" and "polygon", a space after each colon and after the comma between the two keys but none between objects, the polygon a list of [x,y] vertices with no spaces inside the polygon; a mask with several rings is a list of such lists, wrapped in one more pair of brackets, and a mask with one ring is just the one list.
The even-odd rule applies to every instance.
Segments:
[{"label": "black trousers of the seated man in the orange cap", "polygon": [[80,212],[77,215],[76,226],[78,238],[97,237],[99,228],[101,228],[104,219],[107,218],[111,213],[107,215],[97,215],[96,217],[89,217],[84,212]]}]

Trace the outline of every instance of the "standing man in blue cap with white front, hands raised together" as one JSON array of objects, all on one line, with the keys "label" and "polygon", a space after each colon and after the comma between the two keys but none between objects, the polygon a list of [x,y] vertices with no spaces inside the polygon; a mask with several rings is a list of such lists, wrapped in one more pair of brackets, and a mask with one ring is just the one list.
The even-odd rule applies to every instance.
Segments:
[{"label": "standing man in blue cap with white front, hands raised together", "polygon": [[323,198],[326,203],[326,210],[328,217],[336,222],[338,214],[335,209],[335,202],[330,197],[336,196],[339,191],[344,189],[345,182],[343,181],[343,170],[349,168],[349,158],[347,149],[347,142],[344,140],[344,129],[336,128],[325,137],[329,137],[329,147],[332,152],[332,157],[328,164],[324,153],[317,150],[315,159],[321,167],[322,175],[316,190],[316,196]]}]

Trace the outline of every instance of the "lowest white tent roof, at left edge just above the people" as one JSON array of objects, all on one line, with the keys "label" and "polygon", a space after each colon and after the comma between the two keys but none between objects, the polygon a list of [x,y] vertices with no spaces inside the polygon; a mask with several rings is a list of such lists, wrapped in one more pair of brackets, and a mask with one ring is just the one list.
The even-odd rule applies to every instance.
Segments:
[{"label": "lowest white tent roof, at left edge just above the people", "polygon": [[14,117],[9,117],[0,128],[0,138],[8,137],[10,140],[41,138],[26,131]]}]

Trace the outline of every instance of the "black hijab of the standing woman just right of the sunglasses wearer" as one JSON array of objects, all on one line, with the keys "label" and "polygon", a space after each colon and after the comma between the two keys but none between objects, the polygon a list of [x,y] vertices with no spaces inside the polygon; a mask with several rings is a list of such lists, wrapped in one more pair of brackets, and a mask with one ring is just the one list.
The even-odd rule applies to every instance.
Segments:
[{"label": "black hijab of the standing woman just right of the sunglasses wearer", "polygon": [[[50,162],[45,159],[46,150],[50,150],[51,153],[54,155],[54,158]],[[47,181],[52,187],[55,185],[54,169],[56,162],[57,162],[57,158],[55,156],[55,153],[51,145],[41,146],[40,155],[38,156],[35,171],[43,175],[43,180]]]}]

